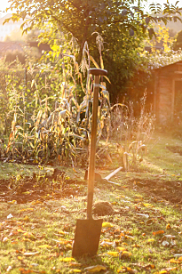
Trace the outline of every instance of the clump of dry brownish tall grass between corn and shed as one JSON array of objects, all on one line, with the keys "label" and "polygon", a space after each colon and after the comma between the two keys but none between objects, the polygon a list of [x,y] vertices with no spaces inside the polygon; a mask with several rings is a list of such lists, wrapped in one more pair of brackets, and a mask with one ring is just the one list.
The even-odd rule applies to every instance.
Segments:
[{"label": "clump of dry brownish tall grass between corn and shed", "polygon": [[138,170],[147,152],[147,142],[154,133],[154,115],[146,112],[146,93],[140,100],[140,113],[134,116],[133,102],[116,104],[112,110],[112,133],[125,171]]}]

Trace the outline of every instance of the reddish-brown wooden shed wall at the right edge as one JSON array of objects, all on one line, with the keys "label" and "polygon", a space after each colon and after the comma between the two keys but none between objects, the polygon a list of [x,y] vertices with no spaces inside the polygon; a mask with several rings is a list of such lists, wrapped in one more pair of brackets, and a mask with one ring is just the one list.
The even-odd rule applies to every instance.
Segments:
[{"label": "reddish-brown wooden shed wall at the right edge", "polygon": [[154,113],[161,124],[182,121],[182,60],[153,70]]}]

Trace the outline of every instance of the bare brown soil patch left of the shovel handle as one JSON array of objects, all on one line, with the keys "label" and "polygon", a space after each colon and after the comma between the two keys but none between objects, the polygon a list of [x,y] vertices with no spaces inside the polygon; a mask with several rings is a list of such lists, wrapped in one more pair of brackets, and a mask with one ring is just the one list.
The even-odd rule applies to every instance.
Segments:
[{"label": "bare brown soil patch left of the shovel handle", "polygon": [[77,197],[86,195],[86,182],[67,179],[65,181],[40,180],[31,177],[21,178],[18,183],[0,180],[0,200],[26,204],[33,200],[58,199],[60,197]]}]

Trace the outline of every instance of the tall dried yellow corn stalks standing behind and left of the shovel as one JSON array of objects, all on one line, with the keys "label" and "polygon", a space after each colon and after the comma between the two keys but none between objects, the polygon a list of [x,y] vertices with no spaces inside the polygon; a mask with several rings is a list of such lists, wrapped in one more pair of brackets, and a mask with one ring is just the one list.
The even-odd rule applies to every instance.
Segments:
[{"label": "tall dried yellow corn stalks standing behind and left of the shovel", "polygon": [[[83,56],[83,62],[86,84],[75,57],[68,54],[62,56],[59,71],[44,70],[44,77],[33,68],[24,72],[23,82],[23,71],[18,77],[6,75],[6,87],[1,88],[1,131],[6,136],[0,144],[3,160],[28,164],[51,161],[73,166],[87,164],[93,78],[86,75],[86,71],[91,56]],[[98,140],[109,118],[109,108],[106,83],[102,82]]]}]

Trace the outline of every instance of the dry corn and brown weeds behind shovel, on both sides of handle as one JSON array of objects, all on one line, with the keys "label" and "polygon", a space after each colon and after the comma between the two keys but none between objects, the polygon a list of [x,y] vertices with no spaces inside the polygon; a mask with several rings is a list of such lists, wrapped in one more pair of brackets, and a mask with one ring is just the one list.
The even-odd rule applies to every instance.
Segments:
[{"label": "dry corn and brown weeds behind shovel, on both sides of handle", "polygon": [[[55,66],[43,69],[29,65],[28,69],[9,71],[1,77],[0,160],[73,168],[88,165],[94,90],[88,70],[104,69],[100,36],[98,44],[100,66],[85,43],[80,66],[75,54],[51,52],[57,57]],[[98,143],[104,139],[105,144],[99,147],[97,158],[105,154],[112,164],[107,145],[110,133],[115,132],[125,170],[137,168],[140,151],[146,151],[145,141],[153,131],[154,118],[143,109],[136,120],[126,105],[111,106],[107,82],[107,77],[100,77]]]}]

